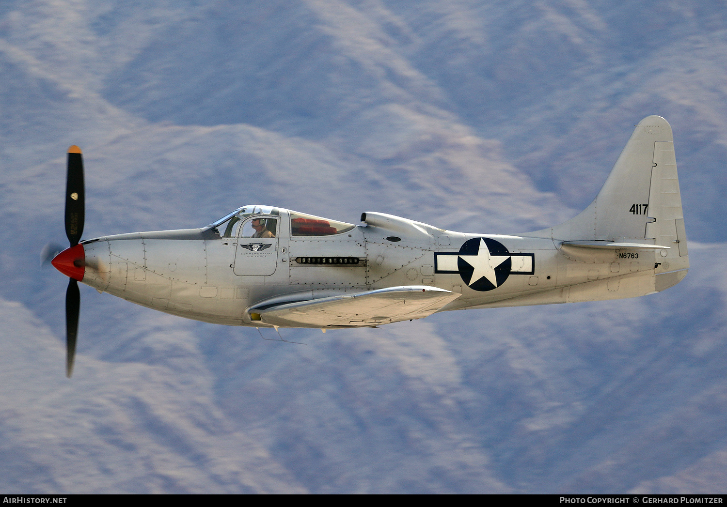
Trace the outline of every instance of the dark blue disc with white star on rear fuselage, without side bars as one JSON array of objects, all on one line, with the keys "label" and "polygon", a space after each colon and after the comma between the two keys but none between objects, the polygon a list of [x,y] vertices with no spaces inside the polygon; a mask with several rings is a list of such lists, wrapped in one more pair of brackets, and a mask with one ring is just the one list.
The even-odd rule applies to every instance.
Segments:
[{"label": "dark blue disc with white star on rear fuselage, without side bars", "polygon": [[505,245],[490,238],[473,238],[459,248],[459,276],[475,291],[491,291],[505,283],[513,261]]}]

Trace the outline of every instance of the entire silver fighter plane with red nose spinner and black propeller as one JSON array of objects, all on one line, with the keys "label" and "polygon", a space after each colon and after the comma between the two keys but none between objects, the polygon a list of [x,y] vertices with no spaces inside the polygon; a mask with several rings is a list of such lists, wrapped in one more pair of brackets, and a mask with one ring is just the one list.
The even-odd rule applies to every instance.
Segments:
[{"label": "entire silver fighter plane with red nose spinner and black propeller", "polygon": [[199,229],[81,240],[81,150],[68,150],[65,229],[52,264],[66,294],[73,371],[78,282],[180,317],[256,328],[361,328],[457,309],[644,296],[687,273],[686,233],[664,118],[644,118],[581,214],[517,235],[455,232],[366,211],[346,224],[273,206]]}]

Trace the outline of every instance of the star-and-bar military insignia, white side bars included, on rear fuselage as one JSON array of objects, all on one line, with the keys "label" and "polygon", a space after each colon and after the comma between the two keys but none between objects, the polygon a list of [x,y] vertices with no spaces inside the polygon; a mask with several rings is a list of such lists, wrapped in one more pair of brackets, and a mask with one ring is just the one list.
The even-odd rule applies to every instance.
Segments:
[{"label": "star-and-bar military insignia, white side bars included, on rear fuselage", "polygon": [[435,252],[435,272],[459,273],[475,291],[491,291],[510,275],[534,275],[535,254],[511,254],[505,245],[491,238],[465,241],[459,252]]}]

